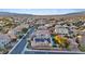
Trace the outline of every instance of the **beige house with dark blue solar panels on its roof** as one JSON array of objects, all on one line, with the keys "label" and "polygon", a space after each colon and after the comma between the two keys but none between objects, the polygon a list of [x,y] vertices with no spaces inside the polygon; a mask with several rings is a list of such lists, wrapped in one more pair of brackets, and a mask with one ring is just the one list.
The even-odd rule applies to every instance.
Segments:
[{"label": "beige house with dark blue solar panels on its roof", "polygon": [[48,30],[37,30],[33,34],[33,40],[31,41],[33,49],[51,49],[52,38]]}]

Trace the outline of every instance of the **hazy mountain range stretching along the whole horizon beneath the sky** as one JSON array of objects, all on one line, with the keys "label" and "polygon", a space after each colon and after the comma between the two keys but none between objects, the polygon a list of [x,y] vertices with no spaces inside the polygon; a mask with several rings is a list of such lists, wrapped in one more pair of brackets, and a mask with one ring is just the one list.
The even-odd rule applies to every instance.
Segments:
[{"label": "hazy mountain range stretching along the whole horizon beneath the sky", "polygon": [[85,15],[85,11],[61,14],[61,15],[57,15],[57,14],[55,14],[55,15],[33,15],[33,14],[0,12],[0,16],[79,16],[79,15]]}]

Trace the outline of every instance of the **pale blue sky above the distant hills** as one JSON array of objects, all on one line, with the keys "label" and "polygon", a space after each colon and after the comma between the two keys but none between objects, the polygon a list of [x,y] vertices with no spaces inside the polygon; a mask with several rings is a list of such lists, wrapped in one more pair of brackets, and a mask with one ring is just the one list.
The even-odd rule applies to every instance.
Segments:
[{"label": "pale blue sky above the distant hills", "polygon": [[54,15],[82,12],[85,9],[0,9],[0,12],[34,14],[34,15]]}]

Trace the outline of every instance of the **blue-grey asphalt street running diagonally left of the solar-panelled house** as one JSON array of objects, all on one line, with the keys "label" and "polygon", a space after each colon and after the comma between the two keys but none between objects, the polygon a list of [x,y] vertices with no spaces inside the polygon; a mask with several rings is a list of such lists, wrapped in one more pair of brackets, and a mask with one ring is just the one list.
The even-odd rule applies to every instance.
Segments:
[{"label": "blue-grey asphalt street running diagonally left of the solar-panelled house", "polygon": [[33,33],[33,30],[34,30],[34,27],[31,27],[30,29],[28,29],[26,35],[23,36],[23,38],[13,47],[13,49],[9,52],[9,54],[20,54],[27,43],[26,38],[28,38],[29,35]]}]

